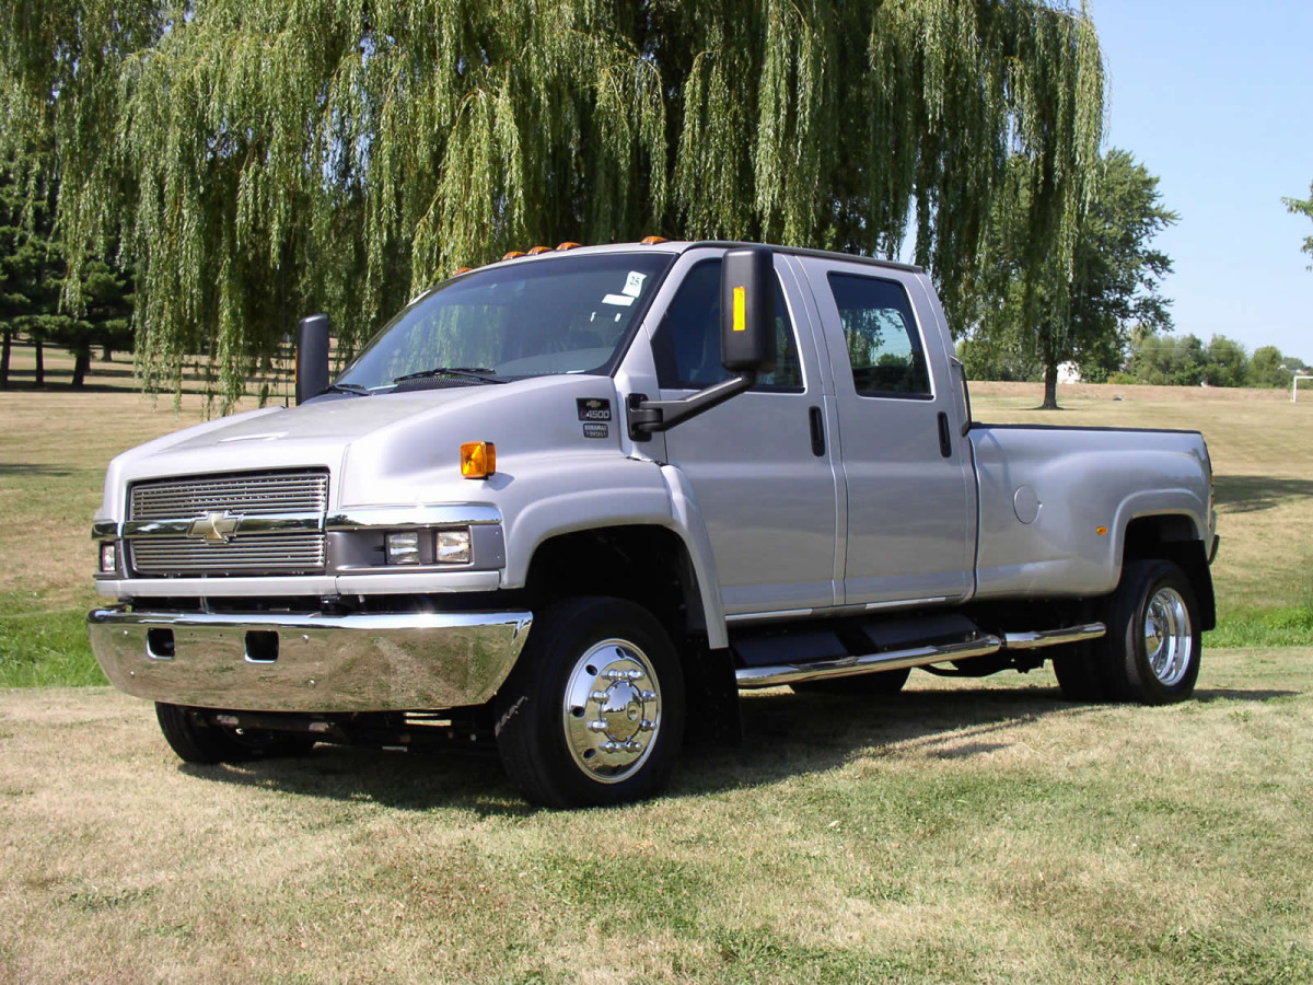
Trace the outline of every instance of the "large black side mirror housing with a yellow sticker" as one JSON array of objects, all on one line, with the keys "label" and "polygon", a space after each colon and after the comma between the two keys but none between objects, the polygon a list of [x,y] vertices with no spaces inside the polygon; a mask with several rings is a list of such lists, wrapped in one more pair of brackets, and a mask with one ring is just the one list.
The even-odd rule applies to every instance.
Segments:
[{"label": "large black side mirror housing with a yellow sticker", "polygon": [[721,265],[721,365],[731,373],[775,369],[775,255],[730,250]]}]

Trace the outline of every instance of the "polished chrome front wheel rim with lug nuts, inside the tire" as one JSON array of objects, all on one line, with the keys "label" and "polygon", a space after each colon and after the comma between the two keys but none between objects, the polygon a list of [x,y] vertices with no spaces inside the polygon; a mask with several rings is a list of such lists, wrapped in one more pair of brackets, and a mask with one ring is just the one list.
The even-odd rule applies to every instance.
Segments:
[{"label": "polished chrome front wheel rim with lug nuts, inside the tire", "polygon": [[660,682],[651,661],[626,640],[603,640],[575,662],[563,695],[566,747],[599,783],[642,768],[660,732]]}]

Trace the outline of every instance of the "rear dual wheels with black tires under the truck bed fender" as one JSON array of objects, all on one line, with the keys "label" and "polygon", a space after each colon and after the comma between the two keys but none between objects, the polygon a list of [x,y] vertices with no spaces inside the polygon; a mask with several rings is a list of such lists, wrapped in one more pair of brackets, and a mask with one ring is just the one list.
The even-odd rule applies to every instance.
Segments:
[{"label": "rear dual wheels with black tires under the truck bed fender", "polygon": [[1129,561],[1100,613],[1107,636],[1053,658],[1071,701],[1184,701],[1195,691],[1203,653],[1199,603],[1171,561]]}]

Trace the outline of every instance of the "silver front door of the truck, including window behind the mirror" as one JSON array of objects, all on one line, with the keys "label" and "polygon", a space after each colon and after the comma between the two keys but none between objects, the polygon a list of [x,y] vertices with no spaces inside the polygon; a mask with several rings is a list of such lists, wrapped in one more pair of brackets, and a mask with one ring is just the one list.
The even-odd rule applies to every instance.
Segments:
[{"label": "silver front door of the truck, including window behind the mirror", "polygon": [[[684,257],[653,338],[662,399],[729,376],[720,362],[720,255]],[[706,523],[729,616],[831,607],[838,591],[836,478],[827,443],[813,440],[814,416],[825,428],[819,355],[809,324],[794,327],[807,315],[793,272],[780,257],[776,272],[775,372],[666,432],[667,457],[688,475]]]}]

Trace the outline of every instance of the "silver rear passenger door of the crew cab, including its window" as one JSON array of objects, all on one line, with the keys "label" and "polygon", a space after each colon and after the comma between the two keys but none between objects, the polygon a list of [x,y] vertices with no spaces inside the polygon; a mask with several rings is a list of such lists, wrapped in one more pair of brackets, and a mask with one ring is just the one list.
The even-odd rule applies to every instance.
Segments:
[{"label": "silver rear passenger door of the crew cab, including its window", "polygon": [[974,475],[948,347],[909,271],[797,257],[823,324],[847,502],[843,602],[951,602],[974,586]]}]

